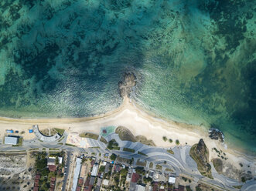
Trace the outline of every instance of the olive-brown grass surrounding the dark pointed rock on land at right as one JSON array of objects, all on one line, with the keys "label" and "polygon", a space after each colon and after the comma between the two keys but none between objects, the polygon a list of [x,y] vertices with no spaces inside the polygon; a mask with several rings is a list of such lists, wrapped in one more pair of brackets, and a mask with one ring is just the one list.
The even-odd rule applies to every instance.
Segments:
[{"label": "olive-brown grass surrounding the dark pointed rock on land at right", "polygon": [[[201,162],[201,157],[196,153],[197,144],[193,145],[189,151],[189,156],[196,162],[198,171],[203,175],[207,176],[210,179],[213,179],[211,166],[207,163],[207,166]],[[205,155],[209,156],[209,152],[207,151]]]}]

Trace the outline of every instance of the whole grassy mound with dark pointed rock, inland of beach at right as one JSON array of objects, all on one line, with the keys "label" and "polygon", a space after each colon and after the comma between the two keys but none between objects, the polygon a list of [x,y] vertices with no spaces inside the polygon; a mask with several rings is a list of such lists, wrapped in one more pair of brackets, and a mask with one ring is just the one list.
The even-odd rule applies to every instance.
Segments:
[{"label": "whole grassy mound with dark pointed rock, inland of beach at right", "polygon": [[213,178],[209,163],[209,151],[203,139],[200,139],[198,144],[192,146],[189,155],[195,160],[197,168],[203,176]]}]

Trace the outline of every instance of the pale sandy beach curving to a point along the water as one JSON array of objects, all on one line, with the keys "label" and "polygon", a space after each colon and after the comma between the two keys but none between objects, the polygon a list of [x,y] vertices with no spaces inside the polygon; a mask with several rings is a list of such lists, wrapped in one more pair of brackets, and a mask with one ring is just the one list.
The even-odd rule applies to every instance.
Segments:
[{"label": "pale sandy beach curving to a point along the water", "polygon": [[[25,131],[22,136],[24,139],[34,138],[34,134],[29,134],[28,129],[32,129],[32,125],[39,125],[39,129],[46,128],[61,128],[67,132],[94,132],[99,133],[104,126],[125,126],[135,136],[145,136],[147,139],[152,139],[156,146],[172,147],[176,146],[175,140],[179,139],[180,145],[189,145],[199,142],[203,138],[210,151],[210,159],[217,157],[217,153],[212,149],[215,147],[227,154],[228,161],[237,169],[241,169],[239,163],[247,164],[247,166],[256,163],[253,156],[246,156],[234,149],[228,149],[223,143],[210,139],[207,129],[200,126],[192,126],[184,123],[173,122],[166,119],[159,119],[149,115],[142,108],[125,98],[124,102],[118,109],[107,112],[100,116],[70,118],[70,119],[10,119],[0,118],[0,136],[5,135],[6,129]],[[172,139],[173,142],[164,141],[162,136],[167,139]],[[246,168],[246,166],[244,167]],[[247,169],[245,169],[247,170]]]}]

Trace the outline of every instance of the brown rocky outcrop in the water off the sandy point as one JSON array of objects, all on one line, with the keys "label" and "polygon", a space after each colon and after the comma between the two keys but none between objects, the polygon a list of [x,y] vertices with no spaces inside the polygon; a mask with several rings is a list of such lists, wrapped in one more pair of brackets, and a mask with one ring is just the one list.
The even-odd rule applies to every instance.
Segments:
[{"label": "brown rocky outcrop in the water off the sandy point", "polygon": [[129,96],[131,89],[136,85],[136,76],[134,73],[125,73],[124,79],[118,82],[119,94],[122,98]]}]

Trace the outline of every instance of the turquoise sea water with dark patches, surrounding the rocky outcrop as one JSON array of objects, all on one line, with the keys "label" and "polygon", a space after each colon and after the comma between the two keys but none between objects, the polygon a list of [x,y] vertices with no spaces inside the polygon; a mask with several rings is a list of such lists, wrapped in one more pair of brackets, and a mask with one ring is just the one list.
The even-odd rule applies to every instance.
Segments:
[{"label": "turquoise sea water with dark patches, surrounding the rocky outcrop", "polygon": [[214,126],[256,151],[254,1],[2,0],[0,116],[71,117],[121,103]]}]

